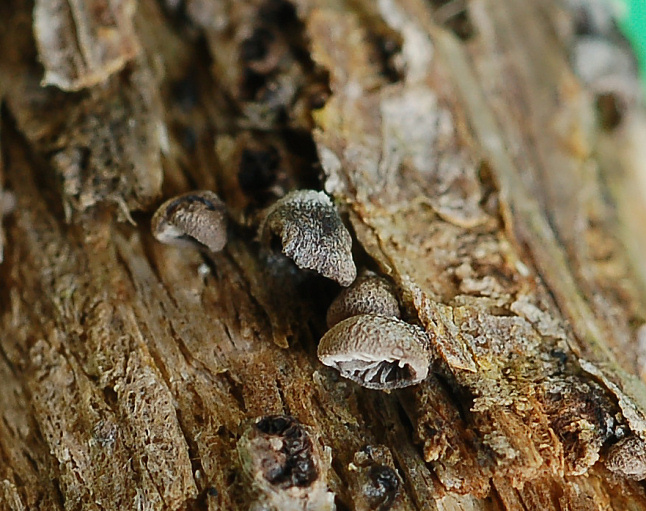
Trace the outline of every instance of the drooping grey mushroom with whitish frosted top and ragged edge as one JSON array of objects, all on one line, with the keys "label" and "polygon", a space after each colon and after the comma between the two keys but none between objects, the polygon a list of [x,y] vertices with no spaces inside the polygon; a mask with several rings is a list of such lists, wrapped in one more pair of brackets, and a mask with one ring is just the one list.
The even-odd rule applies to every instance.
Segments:
[{"label": "drooping grey mushroom with whitish frosted top and ragged edge", "polygon": [[297,190],[277,200],[265,213],[260,237],[266,246],[278,237],[283,253],[296,266],[342,286],[349,286],[357,276],[352,237],[323,192]]}]

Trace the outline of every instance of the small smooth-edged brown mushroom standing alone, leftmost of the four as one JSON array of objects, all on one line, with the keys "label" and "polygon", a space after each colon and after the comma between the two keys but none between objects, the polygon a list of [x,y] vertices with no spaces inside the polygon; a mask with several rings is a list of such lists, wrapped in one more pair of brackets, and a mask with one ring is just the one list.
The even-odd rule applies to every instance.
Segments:
[{"label": "small smooth-edged brown mushroom standing alone, leftmost of the four", "polygon": [[152,219],[153,236],[162,243],[206,247],[219,252],[227,243],[226,208],[208,190],[178,195],[164,202]]}]

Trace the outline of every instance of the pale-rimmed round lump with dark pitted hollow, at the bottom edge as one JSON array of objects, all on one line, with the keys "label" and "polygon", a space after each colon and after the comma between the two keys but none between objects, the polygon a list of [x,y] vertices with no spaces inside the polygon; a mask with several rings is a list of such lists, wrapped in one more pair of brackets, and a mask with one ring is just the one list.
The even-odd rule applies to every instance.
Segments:
[{"label": "pale-rimmed round lump with dark pitted hollow, at the bottom edge", "polygon": [[238,441],[237,451],[257,499],[253,509],[334,509],[334,494],[327,487],[331,451],[321,448],[315,433],[294,417],[258,419]]}]

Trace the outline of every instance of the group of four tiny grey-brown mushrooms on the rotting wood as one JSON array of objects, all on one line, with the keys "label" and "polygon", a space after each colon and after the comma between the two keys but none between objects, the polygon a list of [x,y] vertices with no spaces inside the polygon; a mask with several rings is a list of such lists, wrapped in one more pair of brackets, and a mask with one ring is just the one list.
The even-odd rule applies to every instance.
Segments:
[{"label": "group of four tiny grey-brown mushrooms on the rotting wood", "polygon": [[[152,232],[163,243],[218,252],[227,242],[227,211],[211,191],[194,191],[164,202],[152,218]],[[324,193],[296,190],[265,209],[259,239],[301,269],[313,270],[345,287],[327,312],[329,330],[318,346],[323,364],[370,389],[390,390],[426,378],[430,341],[420,327],[401,319],[391,283],[371,271],[357,277],[352,237]]]}]

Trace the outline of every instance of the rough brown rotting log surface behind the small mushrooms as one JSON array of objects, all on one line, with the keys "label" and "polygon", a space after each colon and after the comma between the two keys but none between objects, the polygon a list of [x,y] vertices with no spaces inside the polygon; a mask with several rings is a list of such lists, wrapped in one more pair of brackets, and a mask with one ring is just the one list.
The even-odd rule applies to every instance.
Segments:
[{"label": "rough brown rotting log surface behind the small mushrooms", "polygon": [[[331,451],[338,509],[646,509],[603,464],[646,437],[637,128],[601,133],[562,6],[434,4],[2,2],[2,509],[246,509],[236,444],[272,414]],[[149,233],[196,188],[222,253]],[[294,188],[394,281],[427,381],[317,361],[339,288],[255,234]]]}]

